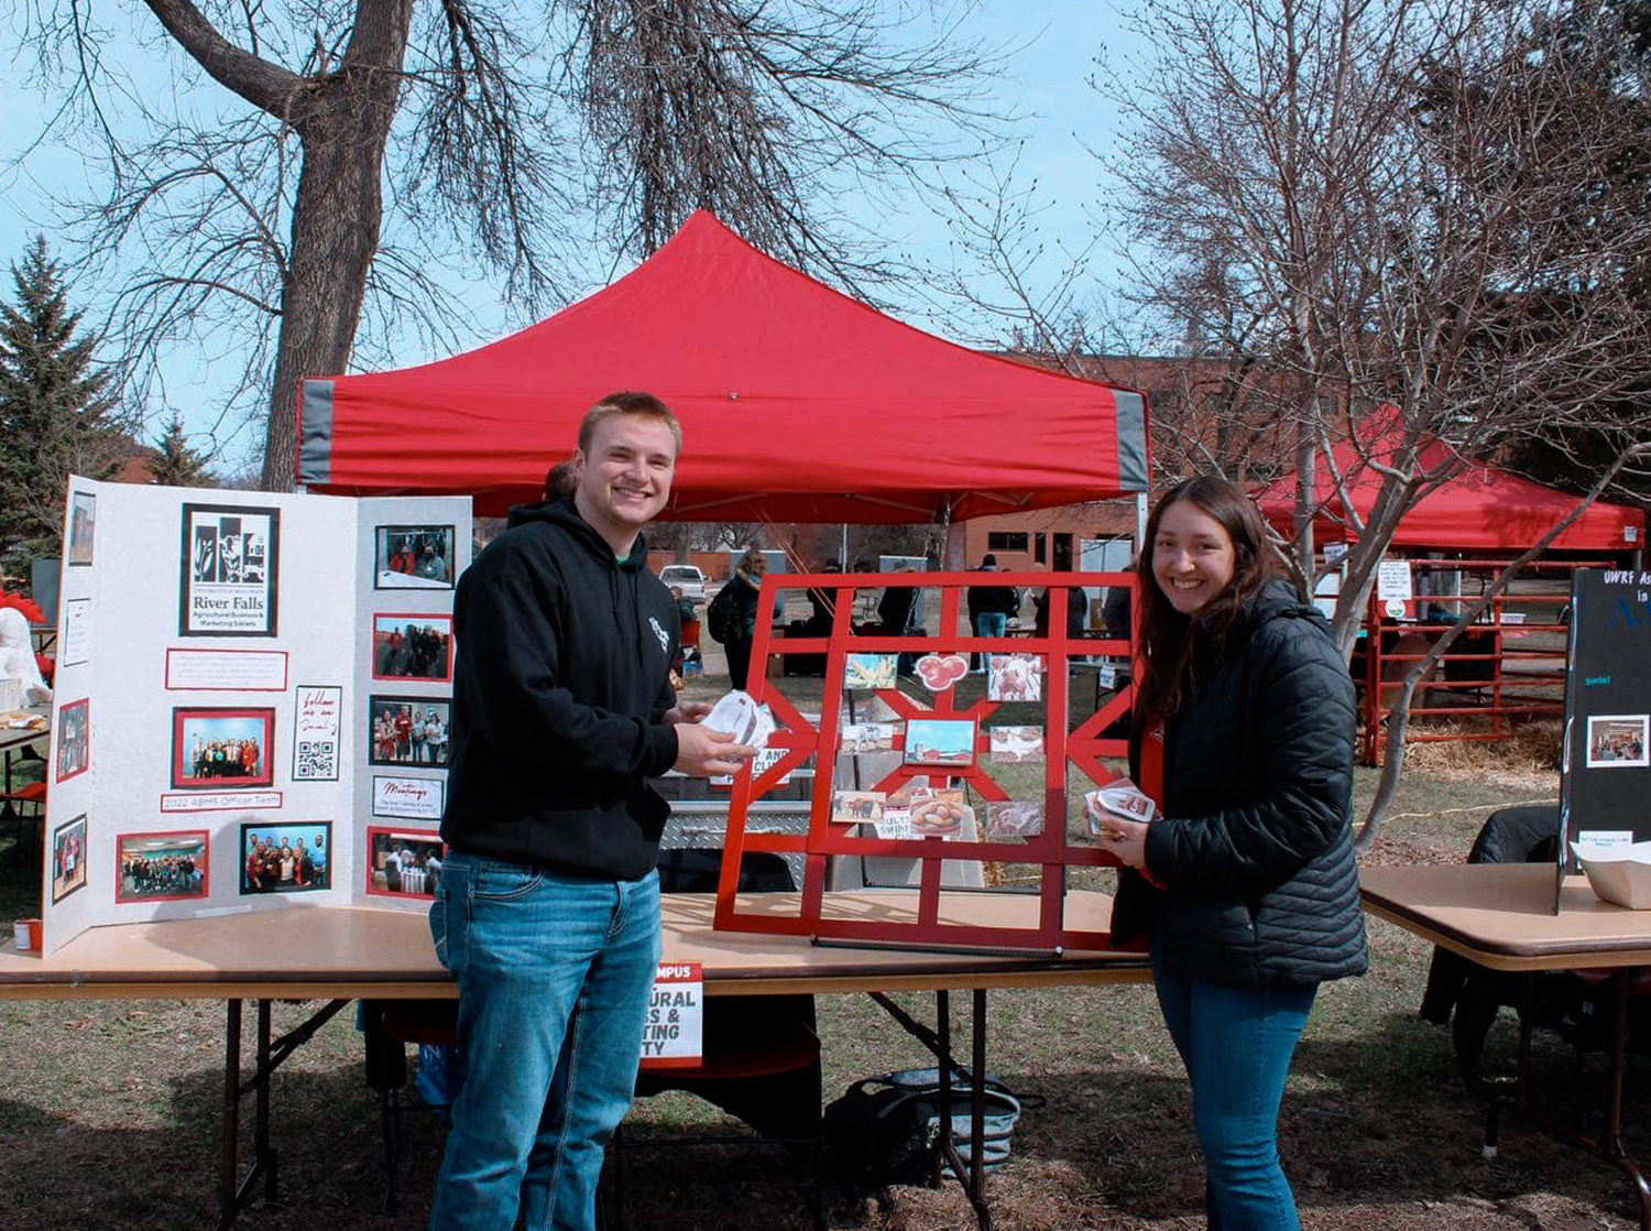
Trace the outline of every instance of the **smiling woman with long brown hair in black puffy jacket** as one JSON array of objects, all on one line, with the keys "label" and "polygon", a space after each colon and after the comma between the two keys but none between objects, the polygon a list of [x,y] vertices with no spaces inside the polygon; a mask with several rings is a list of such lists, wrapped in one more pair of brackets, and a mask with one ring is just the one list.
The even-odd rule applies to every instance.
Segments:
[{"label": "smiling woman with long brown hair in black puffy jacket", "polygon": [[1192,1082],[1210,1226],[1296,1231],[1278,1165],[1284,1077],[1319,983],[1365,968],[1352,681],[1232,482],[1166,492],[1139,573],[1129,768],[1159,816],[1100,821],[1124,864],[1113,937],[1151,952]]}]

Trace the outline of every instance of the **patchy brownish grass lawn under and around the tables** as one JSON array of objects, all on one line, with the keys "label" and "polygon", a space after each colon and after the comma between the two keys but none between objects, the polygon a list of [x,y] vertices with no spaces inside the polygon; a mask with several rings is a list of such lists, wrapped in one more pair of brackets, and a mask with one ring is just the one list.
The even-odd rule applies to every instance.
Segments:
[{"label": "patchy brownish grass lawn under and around the tables", "polygon": [[[715,692],[715,689],[708,689]],[[1530,747],[1540,750],[1542,735]],[[1540,753],[1489,745],[1418,749],[1382,839],[1367,861],[1461,859],[1489,810],[1552,800],[1557,773]],[[1359,798],[1374,772],[1359,772]],[[0,917],[33,914],[33,869],[13,867],[0,831]],[[5,914],[10,910],[12,914]],[[1296,1058],[1283,1112],[1283,1155],[1303,1224],[1379,1228],[1630,1228],[1630,1185],[1613,1167],[1562,1150],[1512,1120],[1493,1162],[1479,1157],[1483,1107],[1455,1072],[1450,1034],[1423,1024],[1430,948],[1372,920],[1370,973],[1327,985]],[[903,995],[926,1016],[933,998]],[[966,998],[954,998],[964,1001]],[[863,996],[821,996],[826,1097],[855,1079],[926,1062]],[[277,1031],[314,1005],[279,1005]],[[963,1024],[963,1013],[958,1013]],[[248,1031],[248,1036],[251,1031]],[[989,1183],[1001,1231],[1202,1226],[1199,1168],[1184,1074],[1144,986],[994,991],[991,1067],[1040,1096]],[[1511,1062],[1504,1015],[1491,1059]],[[967,1038],[958,1039],[959,1048]],[[0,1228],[208,1228],[221,1107],[223,1006],[216,1001],[0,1001]],[[1572,1056],[1540,1043],[1557,1086]],[[1595,1061],[1588,1074],[1597,1076]],[[1633,1074],[1630,1107],[1644,1105]],[[664,1096],[632,1112],[637,1137],[703,1129],[713,1112]],[[249,1132],[249,1127],[248,1127]],[[442,1130],[406,1125],[403,1211],[381,1218],[378,1115],[362,1079],[350,1013],[329,1023],[276,1077],[279,1208],[254,1208],[261,1231],[421,1228]],[[1631,1147],[1651,1157],[1643,1117]],[[627,1165],[631,1228],[786,1231],[807,1216],[794,1172],[773,1150],[647,1150]],[[939,1231],[972,1226],[956,1186],[896,1188],[887,1206],[829,1190],[830,1228]]]}]

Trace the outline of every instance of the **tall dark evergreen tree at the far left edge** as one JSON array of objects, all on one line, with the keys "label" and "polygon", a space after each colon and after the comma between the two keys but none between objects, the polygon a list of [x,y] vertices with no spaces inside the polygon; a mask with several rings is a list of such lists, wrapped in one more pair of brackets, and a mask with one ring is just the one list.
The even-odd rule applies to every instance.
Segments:
[{"label": "tall dark evergreen tree at the far left edge", "polygon": [[46,236],[12,266],[15,302],[0,302],[0,567],[56,555],[69,474],[111,478],[119,468],[114,372],[78,337],[81,314],[46,253]]}]

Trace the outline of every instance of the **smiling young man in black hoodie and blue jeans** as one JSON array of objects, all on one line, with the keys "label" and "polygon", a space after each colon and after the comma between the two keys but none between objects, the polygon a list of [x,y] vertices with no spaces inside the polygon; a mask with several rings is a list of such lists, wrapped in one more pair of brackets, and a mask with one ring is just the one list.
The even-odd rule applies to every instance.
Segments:
[{"label": "smiling young man in black hoodie and blue jeans", "polygon": [[646,567],[682,430],[650,393],[584,415],[573,494],[512,509],[454,603],[449,846],[431,905],[469,1074],[436,1231],[589,1231],[631,1104],[659,963],[647,785],[733,773],[753,749],[675,704],[677,605]]}]

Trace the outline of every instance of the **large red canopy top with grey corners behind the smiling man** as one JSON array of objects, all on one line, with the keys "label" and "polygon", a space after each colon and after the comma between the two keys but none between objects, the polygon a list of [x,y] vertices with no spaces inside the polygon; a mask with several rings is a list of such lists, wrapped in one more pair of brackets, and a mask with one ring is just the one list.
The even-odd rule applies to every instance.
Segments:
[{"label": "large red canopy top with grey corners behind the smiling man", "polygon": [[1144,491],[1139,393],[900,324],[695,213],[632,273],[438,364],[305,380],[299,482],[540,497],[580,416],[644,388],[682,420],[665,517],[926,522]]}]

